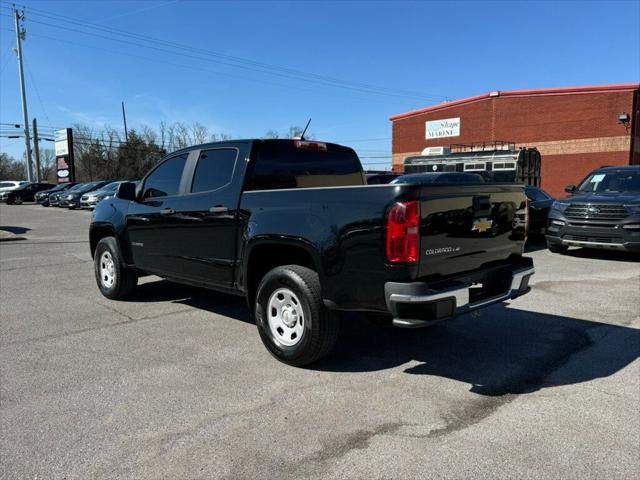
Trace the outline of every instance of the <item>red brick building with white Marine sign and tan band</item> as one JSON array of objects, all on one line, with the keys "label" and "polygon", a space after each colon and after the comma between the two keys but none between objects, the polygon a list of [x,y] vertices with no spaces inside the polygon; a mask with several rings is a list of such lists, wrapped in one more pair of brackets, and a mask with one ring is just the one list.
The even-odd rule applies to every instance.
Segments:
[{"label": "red brick building with white Marine sign and tan band", "polygon": [[542,188],[563,194],[602,165],[640,165],[640,84],[491,92],[390,118],[394,171],[426,147],[536,147]]}]

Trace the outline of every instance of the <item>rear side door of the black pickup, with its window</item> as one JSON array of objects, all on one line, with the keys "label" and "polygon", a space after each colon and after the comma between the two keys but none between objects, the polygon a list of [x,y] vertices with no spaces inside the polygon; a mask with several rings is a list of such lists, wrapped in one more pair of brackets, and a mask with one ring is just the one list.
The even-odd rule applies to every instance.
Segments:
[{"label": "rear side door of the black pickup, with its window", "polygon": [[184,277],[212,286],[233,284],[236,232],[247,145],[229,143],[190,159],[179,216]]}]

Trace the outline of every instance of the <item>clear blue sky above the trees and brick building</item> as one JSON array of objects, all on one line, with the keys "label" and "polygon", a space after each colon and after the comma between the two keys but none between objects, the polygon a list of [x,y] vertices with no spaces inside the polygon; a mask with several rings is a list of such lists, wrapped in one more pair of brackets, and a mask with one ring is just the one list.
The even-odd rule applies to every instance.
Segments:
[{"label": "clear blue sky above the trees and brick building", "polygon": [[[197,121],[236,138],[311,117],[316,138],[378,168],[390,164],[392,114],[496,89],[640,80],[632,0],[17,3],[41,125],[121,128],[122,100],[130,128]],[[0,122],[21,122],[11,4],[0,5]],[[0,151],[23,150],[0,138]]]}]

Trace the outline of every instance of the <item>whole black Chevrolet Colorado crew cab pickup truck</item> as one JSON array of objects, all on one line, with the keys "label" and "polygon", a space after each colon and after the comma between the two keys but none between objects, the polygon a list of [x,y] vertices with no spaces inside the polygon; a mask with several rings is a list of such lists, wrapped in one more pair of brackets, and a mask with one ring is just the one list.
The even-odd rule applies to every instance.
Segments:
[{"label": "whole black Chevrolet Colorado crew cab pickup truck", "polygon": [[229,141],[123,183],[90,244],[106,297],[146,274],[242,295],[268,350],[299,366],[331,350],[340,311],[420,327],[526,293],[523,211],[519,185],[366,185],[347,147]]}]

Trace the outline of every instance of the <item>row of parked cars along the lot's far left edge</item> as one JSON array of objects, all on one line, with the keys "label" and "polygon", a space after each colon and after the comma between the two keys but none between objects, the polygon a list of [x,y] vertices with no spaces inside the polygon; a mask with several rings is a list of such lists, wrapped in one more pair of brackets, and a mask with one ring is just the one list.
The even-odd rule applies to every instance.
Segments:
[{"label": "row of parked cars along the lot's far left edge", "polygon": [[[9,182],[0,182],[0,185]],[[120,180],[103,180],[53,185],[46,182],[11,182],[15,188],[0,191],[0,202],[20,205],[36,202],[43,207],[94,208],[98,202],[115,196]]]}]

